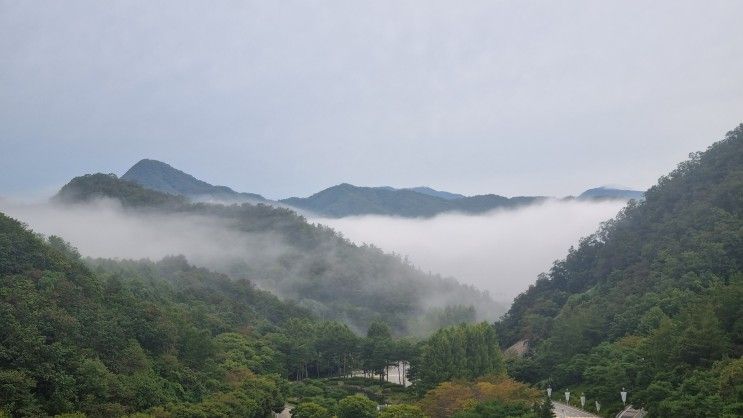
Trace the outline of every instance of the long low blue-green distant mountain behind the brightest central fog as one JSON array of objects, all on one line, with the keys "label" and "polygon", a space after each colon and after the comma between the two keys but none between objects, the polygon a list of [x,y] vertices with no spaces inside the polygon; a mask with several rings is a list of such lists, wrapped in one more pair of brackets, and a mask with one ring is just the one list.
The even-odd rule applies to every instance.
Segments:
[{"label": "long low blue-green distant mountain behind the brightest central fog", "polygon": [[[420,188],[417,188],[420,190]],[[402,217],[431,217],[444,212],[482,213],[498,208],[529,205],[546,198],[538,196],[507,198],[498,195],[479,195],[453,198],[447,192],[421,193],[416,189],[390,187],[358,187],[343,183],[307,198],[292,197],[281,203],[322,216],[342,218],[356,215],[387,215]],[[435,194],[445,193],[448,197]]]}]

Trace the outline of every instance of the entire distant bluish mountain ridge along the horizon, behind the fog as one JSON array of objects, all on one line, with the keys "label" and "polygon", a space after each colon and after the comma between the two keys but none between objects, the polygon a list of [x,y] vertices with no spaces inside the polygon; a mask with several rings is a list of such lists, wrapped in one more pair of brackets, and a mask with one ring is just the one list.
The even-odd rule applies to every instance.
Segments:
[{"label": "entire distant bluish mountain ridge along the horizon, behind the fog", "polygon": [[[178,170],[167,163],[143,159],[132,166],[122,180],[134,182],[149,190],[183,196],[191,201],[215,203],[264,203],[307,213],[309,216],[342,218],[380,215],[404,218],[428,218],[447,212],[484,213],[495,209],[514,209],[548,199],[548,196],[514,196],[497,194],[465,196],[436,190],[428,186],[393,188],[390,186],[356,186],[341,183],[308,197],[290,197],[272,201],[259,194],[237,192],[227,186],[215,186]],[[598,187],[578,197],[563,199],[606,200],[640,199],[643,192]]]}]

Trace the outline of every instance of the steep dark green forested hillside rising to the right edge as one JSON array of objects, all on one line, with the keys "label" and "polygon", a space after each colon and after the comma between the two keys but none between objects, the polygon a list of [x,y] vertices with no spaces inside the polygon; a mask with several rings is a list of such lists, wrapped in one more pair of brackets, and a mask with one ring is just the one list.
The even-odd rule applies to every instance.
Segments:
[{"label": "steep dark green forested hillside rising to the right edge", "polygon": [[743,416],[743,125],[662,177],[516,298],[517,377],[651,416]]}]

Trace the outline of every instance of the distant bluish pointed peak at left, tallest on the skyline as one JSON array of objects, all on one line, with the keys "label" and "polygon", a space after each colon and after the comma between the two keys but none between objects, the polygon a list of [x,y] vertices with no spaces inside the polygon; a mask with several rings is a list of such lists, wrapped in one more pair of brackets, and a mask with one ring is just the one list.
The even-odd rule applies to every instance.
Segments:
[{"label": "distant bluish pointed peak at left, tallest on the skyline", "polygon": [[266,199],[261,195],[239,193],[226,186],[211,185],[157,160],[141,160],[134,164],[121,178],[150,190],[185,196],[194,201],[266,202]]}]

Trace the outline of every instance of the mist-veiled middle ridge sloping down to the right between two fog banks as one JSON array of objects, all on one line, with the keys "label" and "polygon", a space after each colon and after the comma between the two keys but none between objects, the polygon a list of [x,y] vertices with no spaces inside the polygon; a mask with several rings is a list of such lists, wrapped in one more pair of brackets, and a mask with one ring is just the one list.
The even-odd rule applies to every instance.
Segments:
[{"label": "mist-veiled middle ridge sloping down to the right between two fog banks", "polygon": [[[378,248],[354,245],[288,209],[188,203],[182,197],[105,174],[73,179],[55,200],[86,204],[98,198],[120,201],[128,216],[158,213],[219,221],[244,238],[236,244],[242,246],[236,249],[240,256],[207,267],[233,278],[250,279],[299,301],[323,318],[344,321],[356,330],[363,331],[381,319],[396,333],[425,334],[448,324],[494,319],[503,312],[489,296],[472,287],[425,274]],[[219,240],[219,234],[214,239]]]}]

